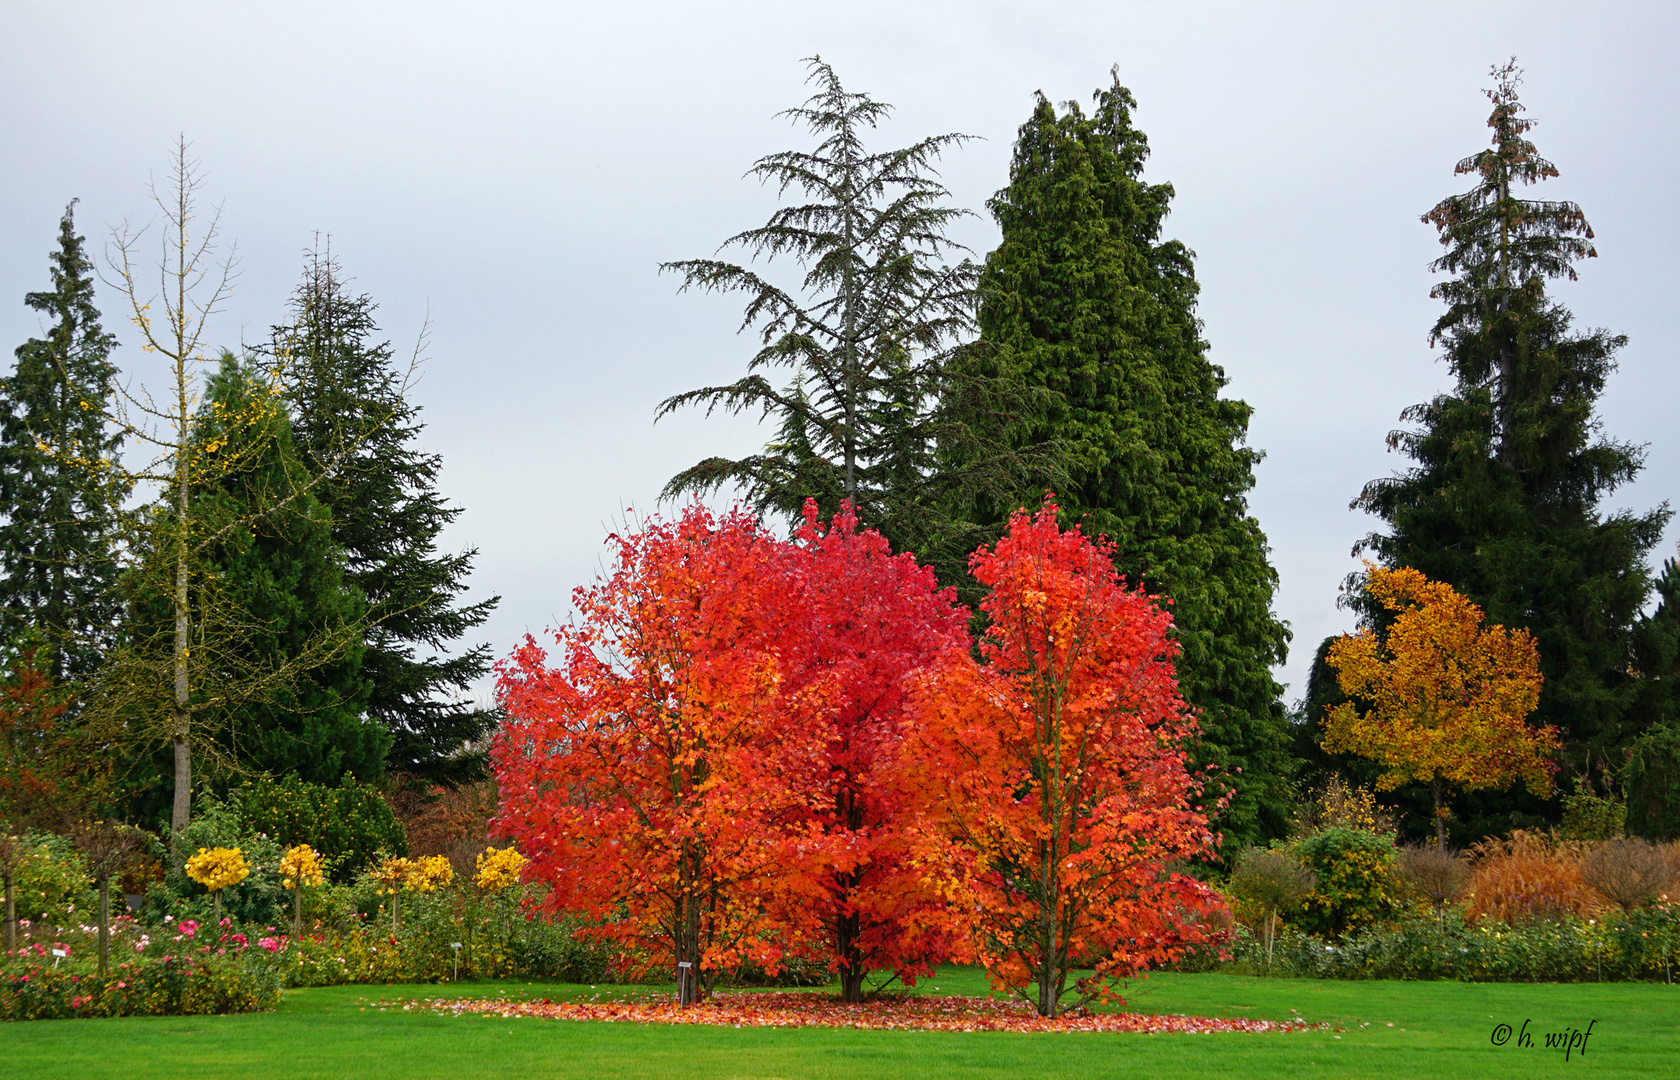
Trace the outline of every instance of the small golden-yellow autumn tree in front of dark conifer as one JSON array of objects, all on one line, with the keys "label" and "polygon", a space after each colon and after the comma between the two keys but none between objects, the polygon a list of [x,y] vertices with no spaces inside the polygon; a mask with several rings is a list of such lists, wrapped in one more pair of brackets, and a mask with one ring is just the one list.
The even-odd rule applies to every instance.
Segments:
[{"label": "small golden-yellow autumn tree in front of dark conifer", "polygon": [[1524,781],[1552,786],[1556,727],[1532,727],[1541,658],[1527,630],[1483,627],[1482,608],[1415,569],[1366,564],[1366,596],[1393,615],[1381,635],[1342,635],[1326,662],[1354,700],[1327,710],[1324,749],[1369,758],[1388,771],[1378,788],[1430,784],[1435,840],[1446,850],[1446,788]]}]

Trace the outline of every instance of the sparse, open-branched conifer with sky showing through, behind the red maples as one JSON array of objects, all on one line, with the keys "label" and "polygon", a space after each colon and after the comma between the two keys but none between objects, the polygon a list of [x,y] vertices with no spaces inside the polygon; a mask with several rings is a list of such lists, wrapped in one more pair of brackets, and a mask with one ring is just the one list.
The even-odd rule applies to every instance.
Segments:
[{"label": "sparse, open-branched conifer with sky showing through, behind the red maples", "polygon": [[[696,464],[662,497],[738,484],[759,512],[790,521],[806,497],[823,516],[850,499],[899,551],[966,554],[971,529],[949,509],[1018,487],[1040,467],[988,438],[995,417],[1020,408],[1016,396],[951,363],[973,331],[976,267],[949,262],[964,249],[946,228],[966,212],[944,205],[934,161],[969,136],[870,151],[865,134],[890,106],[847,92],[820,59],[810,67],[816,94],[783,116],[810,128],[816,149],[759,158],[748,173],[806,202],[722,245],[793,259],[800,286],[719,259],[662,267],[682,275],[684,291],[744,292],[741,329],[763,348],[739,381],[679,393],[657,417],[685,405],[756,410],[776,418],[776,437],[761,453]],[[788,383],[773,383],[769,368],[786,368]]]}]

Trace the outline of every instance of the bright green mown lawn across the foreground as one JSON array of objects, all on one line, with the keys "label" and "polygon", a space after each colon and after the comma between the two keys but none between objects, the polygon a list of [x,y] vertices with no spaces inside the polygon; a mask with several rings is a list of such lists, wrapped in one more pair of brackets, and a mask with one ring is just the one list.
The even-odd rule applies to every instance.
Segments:
[{"label": "bright green mown lawn across the foreground", "polygon": [[[942,971],[932,993],[983,993],[978,973]],[[650,993],[559,984],[341,986],[289,991],[277,1013],[185,1020],[0,1025],[0,1075],[240,1077],[1675,1077],[1680,988],[1656,984],[1319,983],[1156,976],[1131,1008],[1287,1020],[1339,1031],[1299,1035],[948,1035],[586,1025],[380,1011],[415,996]],[[1494,1046],[1495,1025],[1532,1021],[1534,1048]],[[1544,1033],[1593,1028],[1564,1062]],[[1393,1025],[1393,1026],[1388,1026]]]}]

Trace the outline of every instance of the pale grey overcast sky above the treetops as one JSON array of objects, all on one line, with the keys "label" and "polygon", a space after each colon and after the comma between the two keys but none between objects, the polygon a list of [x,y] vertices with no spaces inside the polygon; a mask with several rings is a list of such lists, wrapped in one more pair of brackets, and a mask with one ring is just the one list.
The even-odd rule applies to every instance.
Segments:
[{"label": "pale grey overcast sky above the treetops", "polygon": [[[563,620],[625,507],[679,469],[763,442],[748,422],[654,406],[732,380],[751,343],[731,297],[677,296],[657,264],[709,255],[764,222],[743,180],[805,148],[774,113],[822,54],[895,106],[875,143],[961,131],[959,228],[996,244],[984,200],[1008,178],[1033,91],[1137,97],[1147,178],[1178,190],[1168,232],[1196,250],[1201,317],[1228,395],[1267,457],[1253,512],[1294,628],[1289,695],[1349,628],[1336,588],[1373,526],[1347,509],[1404,462],[1401,408],[1448,386],[1426,333],[1433,228],[1487,143],[1488,67],[1517,55],[1532,138],[1586,210],[1599,259],[1557,289],[1581,326],[1628,334],[1604,430],[1648,445],[1614,507],[1673,499],[1680,34],[1665,3],[20,3],[0,0],[0,344],[40,333],[59,215],[94,252],[151,217],[178,134],[223,205],[242,277],[217,344],[264,338],[316,232],[380,304],[398,349],[430,317],[425,447],[465,507],[472,596],[499,593],[504,655]],[[118,297],[124,370],[146,375]],[[1673,556],[1670,529],[1655,559]]]}]

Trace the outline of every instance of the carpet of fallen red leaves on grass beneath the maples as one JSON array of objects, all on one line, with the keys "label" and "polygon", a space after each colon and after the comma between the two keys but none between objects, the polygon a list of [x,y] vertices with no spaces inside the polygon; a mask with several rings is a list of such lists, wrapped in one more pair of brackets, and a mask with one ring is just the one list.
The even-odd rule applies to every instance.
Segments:
[{"label": "carpet of fallen red leaves on grass beneath the maples", "polygon": [[432,998],[405,1009],[464,1016],[482,1013],[512,1020],[595,1020],[601,1023],[716,1025],[722,1028],[869,1028],[880,1031],[1305,1031],[1327,1025],[1221,1016],[1152,1016],[1146,1013],[1068,1013],[1045,1020],[1023,1001],[998,998],[902,998],[843,1004],[810,993],[717,994],[702,1004],[672,1001],[507,1001]]}]

